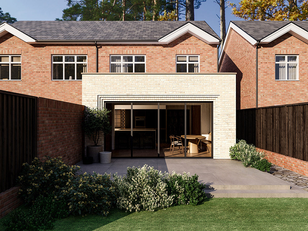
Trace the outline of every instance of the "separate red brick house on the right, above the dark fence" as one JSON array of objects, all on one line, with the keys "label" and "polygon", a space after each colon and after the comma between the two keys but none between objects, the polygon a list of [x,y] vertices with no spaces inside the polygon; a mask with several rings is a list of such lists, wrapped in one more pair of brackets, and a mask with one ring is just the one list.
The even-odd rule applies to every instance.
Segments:
[{"label": "separate red brick house on the right, above the dark fence", "polygon": [[237,73],[237,109],[307,102],[308,23],[231,21],[220,72]]}]

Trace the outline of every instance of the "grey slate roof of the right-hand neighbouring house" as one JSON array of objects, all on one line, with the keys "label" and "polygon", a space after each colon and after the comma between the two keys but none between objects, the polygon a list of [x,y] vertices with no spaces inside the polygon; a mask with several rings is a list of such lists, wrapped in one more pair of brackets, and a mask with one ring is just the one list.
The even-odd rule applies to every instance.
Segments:
[{"label": "grey slate roof of the right-hand neighbouring house", "polygon": [[293,22],[308,31],[308,21],[231,21],[256,40],[261,40],[286,24]]}]

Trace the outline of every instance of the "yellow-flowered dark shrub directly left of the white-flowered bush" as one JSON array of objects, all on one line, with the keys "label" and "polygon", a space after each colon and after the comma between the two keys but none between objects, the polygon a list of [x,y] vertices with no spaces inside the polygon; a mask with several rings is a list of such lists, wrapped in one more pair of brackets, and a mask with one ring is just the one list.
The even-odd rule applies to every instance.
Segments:
[{"label": "yellow-flowered dark shrub directly left of the white-flowered bush", "polygon": [[110,175],[85,172],[68,180],[60,197],[67,201],[70,213],[99,213],[107,216],[115,203],[115,190]]}]

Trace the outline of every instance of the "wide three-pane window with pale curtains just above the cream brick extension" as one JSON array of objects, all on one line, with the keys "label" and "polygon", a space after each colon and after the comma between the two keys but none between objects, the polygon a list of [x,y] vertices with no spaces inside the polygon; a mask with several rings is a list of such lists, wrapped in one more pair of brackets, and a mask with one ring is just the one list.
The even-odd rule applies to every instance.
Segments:
[{"label": "wide three-pane window with pale curtains just above the cream brick extension", "polygon": [[145,72],[145,55],[110,55],[110,72]]}]

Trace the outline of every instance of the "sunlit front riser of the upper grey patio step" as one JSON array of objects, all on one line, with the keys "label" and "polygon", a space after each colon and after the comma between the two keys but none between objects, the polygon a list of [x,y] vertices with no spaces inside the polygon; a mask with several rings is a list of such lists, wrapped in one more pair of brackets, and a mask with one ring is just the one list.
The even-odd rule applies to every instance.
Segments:
[{"label": "sunlit front riser of the upper grey patio step", "polygon": [[224,185],[224,184],[205,184],[206,190],[289,190],[290,184],[280,185]]}]

